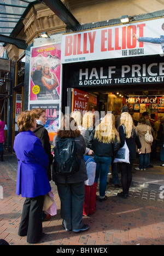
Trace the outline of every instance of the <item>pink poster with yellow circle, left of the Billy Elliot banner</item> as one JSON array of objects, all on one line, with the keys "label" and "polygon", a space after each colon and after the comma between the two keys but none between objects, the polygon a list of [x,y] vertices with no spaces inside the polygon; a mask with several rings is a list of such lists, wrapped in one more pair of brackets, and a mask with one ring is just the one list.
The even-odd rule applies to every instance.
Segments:
[{"label": "pink poster with yellow circle, left of the Billy Elliot banner", "polygon": [[61,43],[31,50],[30,101],[60,100]]}]

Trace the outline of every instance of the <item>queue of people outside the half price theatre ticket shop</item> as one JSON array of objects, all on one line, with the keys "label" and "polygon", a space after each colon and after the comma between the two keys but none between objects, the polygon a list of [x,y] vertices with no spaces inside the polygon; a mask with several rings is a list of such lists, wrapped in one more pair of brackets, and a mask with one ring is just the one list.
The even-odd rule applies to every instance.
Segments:
[{"label": "queue of people outside the half price theatre ticket shop", "polygon": [[[17,117],[19,134],[14,141],[18,161],[16,194],[26,197],[19,235],[27,236],[29,243],[38,242],[43,235],[42,222],[46,219],[43,218],[44,196],[51,191],[52,154],[48,132],[43,126],[45,120],[45,109],[26,110]],[[163,143],[164,118],[162,120],[160,134]],[[61,144],[68,145],[71,142],[72,152],[74,149],[75,154],[73,158],[70,156],[70,159],[72,163],[75,159],[79,163],[75,165],[77,170],[69,176],[66,176],[66,173],[61,174],[68,162],[61,165],[58,160],[55,167],[53,166],[55,170],[52,170],[52,180],[57,185],[61,201],[62,225],[66,231],[79,232],[89,229],[89,225],[83,223],[84,182],[87,180],[84,155],[92,155],[96,162],[95,183],[99,181],[99,202],[104,202],[108,199],[106,187],[109,167],[126,142],[130,152],[129,162],[115,163],[115,172],[119,167],[122,192],[118,193],[118,196],[127,199],[132,182],[132,166],[136,160],[136,146],[139,154],[137,170],[145,170],[149,164],[151,146],[144,142],[147,126],[144,117],[141,117],[135,126],[127,108],[122,109],[118,127],[112,113],[107,113],[96,125],[95,114],[92,112],[85,113],[83,118],[80,112],[72,113],[71,117],[63,116],[61,127],[53,141],[54,154],[55,150],[58,150],[60,159],[68,157],[67,148],[65,147],[64,152]],[[151,133],[150,127],[148,130]],[[161,159],[164,161],[164,150],[161,150]],[[73,168],[72,164],[70,173]]]}]

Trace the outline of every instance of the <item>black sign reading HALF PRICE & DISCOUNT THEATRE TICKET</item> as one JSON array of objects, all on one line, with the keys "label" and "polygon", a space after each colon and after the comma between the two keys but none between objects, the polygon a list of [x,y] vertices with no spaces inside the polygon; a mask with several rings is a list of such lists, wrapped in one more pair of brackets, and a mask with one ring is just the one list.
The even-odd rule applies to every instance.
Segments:
[{"label": "black sign reading HALF PRICE & DISCOUNT THEATRE TICKET", "polygon": [[80,62],[68,65],[68,87],[99,87],[110,85],[143,85],[164,83],[164,56],[159,55],[125,59]]}]

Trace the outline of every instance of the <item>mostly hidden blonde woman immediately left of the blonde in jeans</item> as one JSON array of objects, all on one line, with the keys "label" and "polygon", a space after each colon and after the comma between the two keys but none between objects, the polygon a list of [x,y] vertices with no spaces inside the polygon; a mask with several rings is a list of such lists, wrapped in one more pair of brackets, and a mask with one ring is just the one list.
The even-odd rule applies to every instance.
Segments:
[{"label": "mostly hidden blonde woman immediately left of the blonde in jeans", "polygon": [[89,136],[95,129],[95,115],[92,112],[86,112],[83,117],[83,127],[86,129],[84,139],[86,147],[89,147]]}]

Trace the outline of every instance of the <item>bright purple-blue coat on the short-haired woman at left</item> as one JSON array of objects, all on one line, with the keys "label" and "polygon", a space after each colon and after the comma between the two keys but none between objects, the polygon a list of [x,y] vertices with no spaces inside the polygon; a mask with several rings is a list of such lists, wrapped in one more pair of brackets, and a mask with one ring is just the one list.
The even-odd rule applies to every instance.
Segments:
[{"label": "bright purple-blue coat on the short-haired woman at left", "polygon": [[32,131],[20,132],[14,141],[17,156],[16,194],[22,197],[36,197],[51,191],[47,176],[48,155],[42,142]]}]

